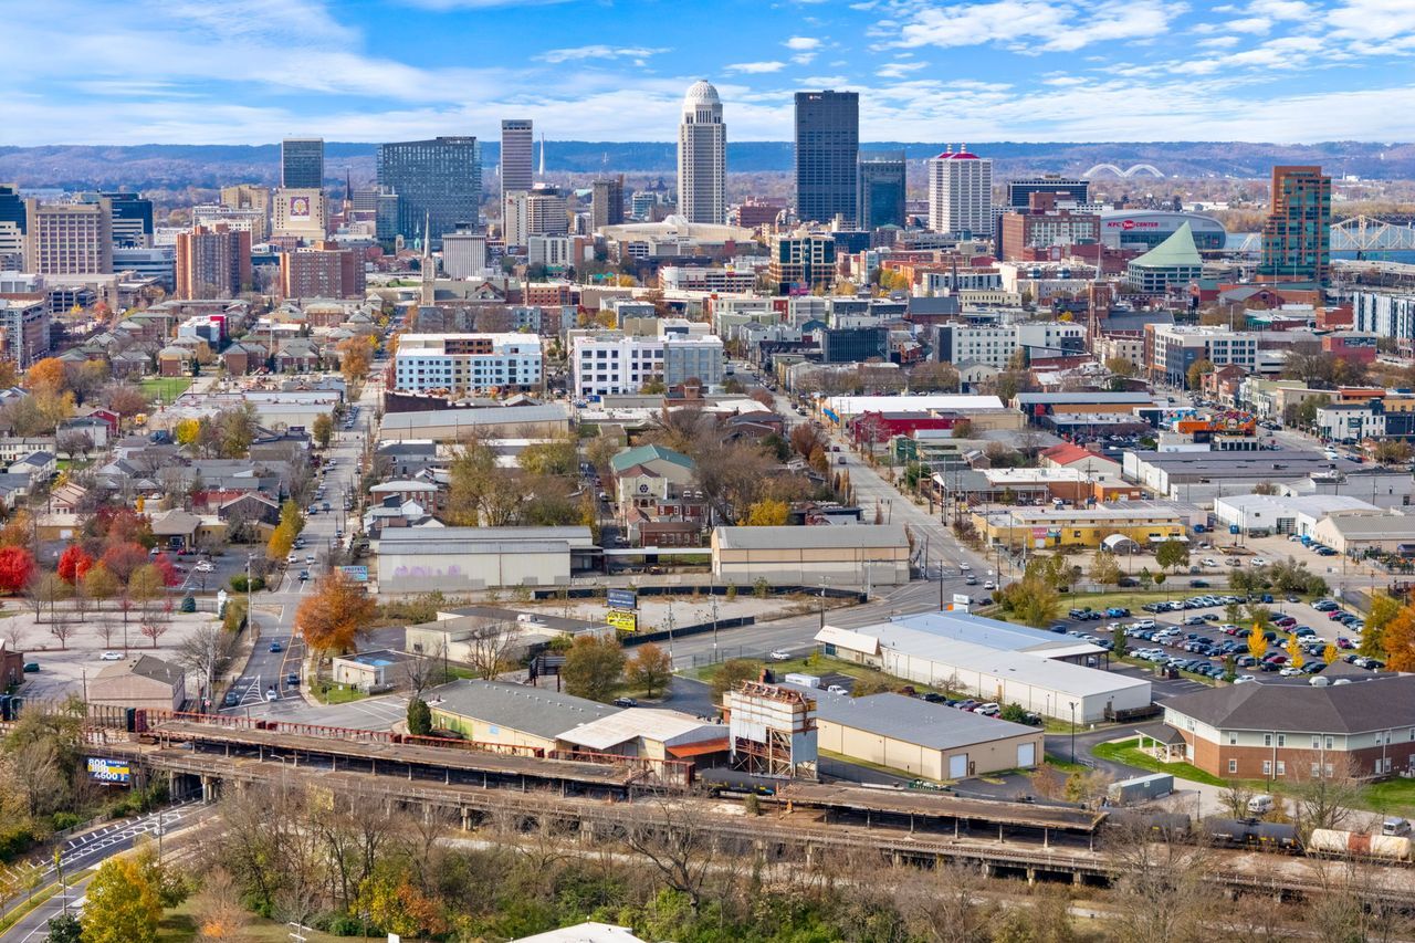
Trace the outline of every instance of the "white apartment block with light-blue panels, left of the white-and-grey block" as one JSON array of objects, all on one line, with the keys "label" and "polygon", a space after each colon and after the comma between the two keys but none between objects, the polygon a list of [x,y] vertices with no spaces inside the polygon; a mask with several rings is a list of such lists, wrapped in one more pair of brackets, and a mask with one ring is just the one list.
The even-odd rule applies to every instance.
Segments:
[{"label": "white apartment block with light-blue panels, left of the white-and-grey block", "polygon": [[403,334],[393,355],[398,389],[538,389],[541,338],[535,334]]}]

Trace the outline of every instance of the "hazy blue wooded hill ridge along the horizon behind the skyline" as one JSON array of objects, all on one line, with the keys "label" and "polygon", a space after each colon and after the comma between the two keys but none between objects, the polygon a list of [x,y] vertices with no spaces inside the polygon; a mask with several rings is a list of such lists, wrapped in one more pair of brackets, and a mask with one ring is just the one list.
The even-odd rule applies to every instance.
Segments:
[{"label": "hazy blue wooded hill ridge along the horizon behind the skyline", "polygon": [[[375,144],[330,142],[325,168],[331,180],[374,178]],[[940,153],[944,144],[879,142],[866,150],[904,150],[910,160]],[[1153,164],[1170,177],[1266,177],[1272,164],[1322,164],[1332,174],[1368,178],[1415,177],[1415,144],[1329,142],[1320,144],[1262,144],[1245,142],[1115,142],[1017,143],[969,142],[969,150],[996,161],[1000,177],[1041,171],[1082,173],[1095,164],[1122,168]],[[499,143],[483,144],[488,173],[499,160]],[[730,173],[788,173],[791,142],[727,144]],[[539,159],[539,150],[536,152]],[[136,187],[150,190],[211,188],[252,181],[275,184],[279,144],[137,144],[0,147],[0,181],[24,187]],[[601,171],[675,173],[672,142],[549,142],[546,168],[559,173]]]}]

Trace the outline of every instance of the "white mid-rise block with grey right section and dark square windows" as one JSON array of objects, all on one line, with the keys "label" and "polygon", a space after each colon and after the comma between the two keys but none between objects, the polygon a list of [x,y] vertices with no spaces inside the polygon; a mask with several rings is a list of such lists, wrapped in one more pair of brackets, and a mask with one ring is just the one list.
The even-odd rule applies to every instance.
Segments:
[{"label": "white mid-rise block with grey right section and dark square windows", "polygon": [[638,392],[652,379],[669,387],[698,379],[703,387],[716,388],[723,381],[722,338],[716,334],[582,334],[570,345],[570,368],[577,396]]}]

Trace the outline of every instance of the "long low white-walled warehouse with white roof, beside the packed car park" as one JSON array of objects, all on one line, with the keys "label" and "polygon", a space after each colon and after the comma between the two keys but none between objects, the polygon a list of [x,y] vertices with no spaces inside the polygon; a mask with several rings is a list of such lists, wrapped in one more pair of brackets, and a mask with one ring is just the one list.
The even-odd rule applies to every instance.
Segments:
[{"label": "long low white-walled warehouse with white roof, beside the packed car park", "polygon": [[1125,711],[1146,709],[1150,682],[1044,654],[1000,650],[959,641],[904,623],[859,629],[826,626],[815,636],[824,654],[867,664],[886,674],[932,688],[966,692],[996,704],[1077,724],[1092,724]]}]

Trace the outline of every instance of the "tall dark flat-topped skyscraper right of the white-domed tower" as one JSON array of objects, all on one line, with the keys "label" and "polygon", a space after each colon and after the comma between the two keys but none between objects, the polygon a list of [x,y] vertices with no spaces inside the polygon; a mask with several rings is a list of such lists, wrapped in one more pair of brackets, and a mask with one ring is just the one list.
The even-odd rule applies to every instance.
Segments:
[{"label": "tall dark flat-topped skyscraper right of the white-domed tower", "polygon": [[797,92],[797,217],[802,222],[855,219],[860,153],[856,92]]}]

